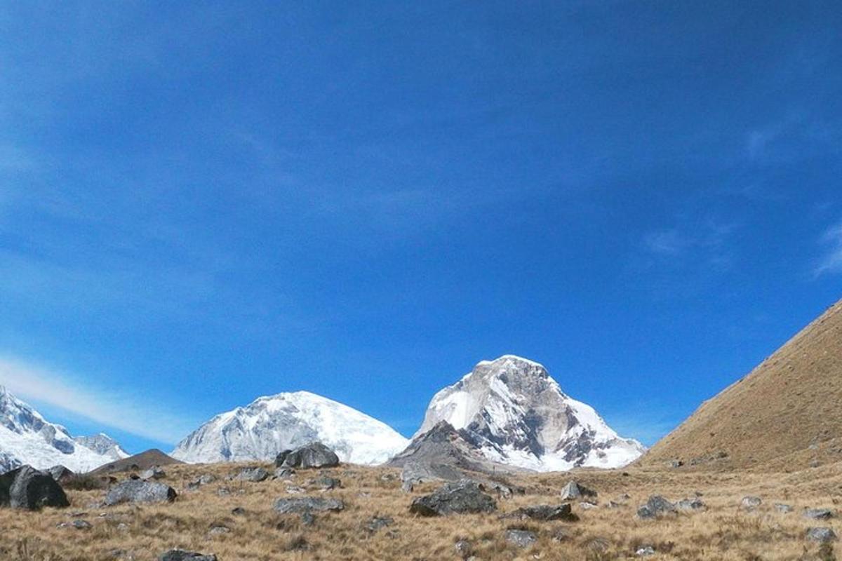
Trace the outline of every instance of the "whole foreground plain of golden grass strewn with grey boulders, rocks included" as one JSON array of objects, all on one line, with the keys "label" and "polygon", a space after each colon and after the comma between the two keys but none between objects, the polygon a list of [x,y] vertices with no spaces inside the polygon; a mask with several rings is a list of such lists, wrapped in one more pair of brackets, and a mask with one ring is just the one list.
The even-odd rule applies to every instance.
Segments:
[{"label": "whole foreground plain of golden grass strewn with grey boulders, rocks included", "polygon": [[66,489],[19,468],[0,476],[0,559],[835,558],[836,468],[477,475],[407,492],[397,468],[323,452],[74,476]]}]

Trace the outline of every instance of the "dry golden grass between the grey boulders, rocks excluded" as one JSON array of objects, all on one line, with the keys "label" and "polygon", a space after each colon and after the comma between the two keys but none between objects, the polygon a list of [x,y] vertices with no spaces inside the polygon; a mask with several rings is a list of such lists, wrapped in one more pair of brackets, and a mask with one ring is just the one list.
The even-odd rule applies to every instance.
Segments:
[{"label": "dry golden grass between the grey boulders, rocks excluded", "polygon": [[[317,515],[312,527],[298,516],[280,516],[272,510],[278,497],[288,495],[287,482],[232,483],[224,480],[235,470],[232,464],[212,466],[170,466],[165,480],[179,490],[179,499],[169,505],[103,508],[96,505],[102,490],[71,491],[72,506],[41,512],[0,511],[0,559],[3,561],[92,561],[109,558],[156,559],[170,548],[216,553],[221,561],[268,561],[270,559],[458,559],[455,543],[466,539],[477,559],[600,559],[634,558],[637,548],[652,545],[658,554],[650,559],[710,559],[753,561],[759,559],[833,558],[827,550],[805,542],[809,526],[834,527],[842,535],[842,524],[808,521],[803,507],[834,507],[833,497],[842,490],[839,465],[815,468],[797,474],[706,473],[683,470],[632,468],[621,471],[583,470],[574,474],[527,475],[515,483],[526,495],[498,500],[494,515],[420,518],[408,513],[413,495],[434,490],[426,484],[412,495],[400,490],[399,473],[389,468],[343,466],[329,470],[342,479],[344,488],[322,492],[306,484],[317,471],[300,471],[289,483],[307,489],[307,495],[329,495],[344,500],[342,512]],[[184,490],[200,474],[215,474],[219,480],[196,492]],[[498,515],[524,505],[557,504],[557,496],[568,479],[598,490],[600,506],[573,510],[578,522],[521,523],[501,520]],[[230,495],[217,490],[227,487]],[[673,519],[638,521],[637,505],[650,494],[670,500],[692,496],[696,491],[709,509],[681,514]],[[619,508],[607,508],[609,500],[627,493],[631,499]],[[741,511],[743,495],[764,499],[756,513]],[[786,502],[796,507],[789,515],[775,511],[773,504]],[[245,516],[233,516],[232,509],[245,508]],[[93,524],[91,530],[58,528],[72,521],[76,511]],[[394,518],[391,527],[376,533],[365,530],[372,516]],[[222,523],[232,532],[212,536],[212,525]],[[120,526],[121,524],[125,526]],[[539,541],[528,549],[504,541],[509,527],[527,527]],[[595,544],[603,544],[604,548]],[[122,552],[122,557],[115,555]]]}]

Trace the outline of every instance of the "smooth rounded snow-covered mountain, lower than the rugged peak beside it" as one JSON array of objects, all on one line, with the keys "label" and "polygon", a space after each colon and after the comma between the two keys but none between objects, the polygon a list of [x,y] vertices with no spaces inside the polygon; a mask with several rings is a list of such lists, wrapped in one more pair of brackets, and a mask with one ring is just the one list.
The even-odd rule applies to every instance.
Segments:
[{"label": "smooth rounded snow-covered mountain, lower than the rugged peak beside it", "polygon": [[350,463],[383,463],[407,446],[391,427],[309,392],[261,397],[216,415],[170,454],[188,463],[270,460],[283,450],[320,441]]}]

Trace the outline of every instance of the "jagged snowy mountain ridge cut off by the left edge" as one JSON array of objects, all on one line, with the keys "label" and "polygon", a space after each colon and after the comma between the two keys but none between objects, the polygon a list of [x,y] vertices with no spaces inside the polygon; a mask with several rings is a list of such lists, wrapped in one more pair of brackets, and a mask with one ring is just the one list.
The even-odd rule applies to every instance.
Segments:
[{"label": "jagged snowy mountain ridge cut off by the left edge", "polygon": [[[104,452],[86,442],[110,442]],[[0,473],[28,463],[46,469],[63,465],[74,472],[86,472],[111,462],[125,451],[105,435],[74,439],[61,425],[45,421],[32,407],[0,386]]]}]

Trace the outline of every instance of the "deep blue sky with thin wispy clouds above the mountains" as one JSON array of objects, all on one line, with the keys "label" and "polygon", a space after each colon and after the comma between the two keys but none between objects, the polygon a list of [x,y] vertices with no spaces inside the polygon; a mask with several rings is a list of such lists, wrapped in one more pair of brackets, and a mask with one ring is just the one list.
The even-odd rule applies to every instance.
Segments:
[{"label": "deep blue sky with thin wispy clouds above the mountains", "polygon": [[0,382],[169,449],[515,353],[651,444],[842,296],[832,2],[2,3]]}]

